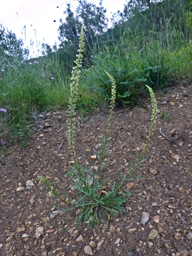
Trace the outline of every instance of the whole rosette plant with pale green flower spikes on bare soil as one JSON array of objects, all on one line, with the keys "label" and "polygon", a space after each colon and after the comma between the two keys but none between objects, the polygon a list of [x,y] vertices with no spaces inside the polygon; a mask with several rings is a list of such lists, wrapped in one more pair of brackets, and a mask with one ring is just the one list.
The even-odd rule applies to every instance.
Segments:
[{"label": "whole rosette plant with pale green flower spikes on bare soil", "polygon": [[[112,114],[114,110],[114,103],[116,99],[116,84],[114,78],[110,73],[107,73],[107,76],[110,78],[112,83],[112,92],[110,100],[110,112],[107,122],[107,129],[105,137],[103,139],[102,148],[97,154],[99,159],[99,168],[97,173],[87,166],[82,166],[76,157],[75,152],[75,124],[76,124],[76,105],[78,101],[78,85],[80,79],[80,68],[82,65],[82,50],[84,46],[83,38],[83,28],[80,36],[79,50],[77,55],[77,60],[75,60],[75,67],[72,71],[71,83],[70,83],[70,99],[68,106],[68,132],[67,139],[70,146],[70,152],[73,156],[73,164],[70,166],[69,176],[71,179],[71,185],[76,190],[76,198],[71,199],[67,196],[63,198],[58,194],[57,188],[55,185],[50,186],[48,180],[43,177],[38,176],[38,178],[45,183],[48,190],[57,198],[62,200],[65,203],[65,208],[63,210],[72,210],[78,208],[80,210],[80,215],[78,217],[79,223],[89,223],[89,228],[91,229],[94,223],[100,224],[100,218],[107,220],[109,215],[118,215],[119,212],[124,211],[124,203],[129,198],[130,193],[127,191],[124,186],[127,181],[134,177],[135,172],[137,171],[139,164],[144,160],[144,154],[146,149],[149,146],[151,141],[151,136],[154,131],[154,125],[156,123],[156,113],[157,105],[154,92],[151,87],[146,86],[149,90],[151,96],[151,105],[152,105],[152,115],[151,115],[151,129],[149,131],[149,136],[146,141],[146,146],[144,151],[133,169],[129,169],[128,174],[120,177],[120,183],[114,182],[110,186],[107,186],[110,178],[104,178],[103,168],[104,168],[104,157],[108,141],[108,135],[110,132],[110,126],[112,123]],[[68,204],[68,206],[67,206]]]}]

